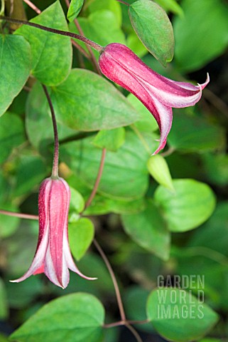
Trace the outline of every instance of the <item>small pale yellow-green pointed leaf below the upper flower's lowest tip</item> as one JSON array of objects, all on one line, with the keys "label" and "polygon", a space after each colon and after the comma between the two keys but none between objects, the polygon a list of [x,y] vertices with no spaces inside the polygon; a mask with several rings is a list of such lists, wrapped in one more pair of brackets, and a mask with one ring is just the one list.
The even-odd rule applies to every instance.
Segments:
[{"label": "small pale yellow-green pointed leaf below the upper flower's lowest tip", "polygon": [[173,189],[173,180],[170,175],[168,164],[164,157],[161,155],[153,155],[147,162],[148,172],[151,176],[163,187],[167,187],[168,190]]}]

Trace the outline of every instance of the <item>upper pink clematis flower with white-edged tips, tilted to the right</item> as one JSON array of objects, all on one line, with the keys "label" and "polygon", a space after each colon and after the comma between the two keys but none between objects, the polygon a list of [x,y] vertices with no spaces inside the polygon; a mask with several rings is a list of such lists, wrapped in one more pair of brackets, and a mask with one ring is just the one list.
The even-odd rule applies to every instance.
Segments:
[{"label": "upper pink clematis flower with white-edged tips, tilted to the right", "polygon": [[153,155],[165,147],[172,125],[172,107],[195,105],[210,81],[208,75],[206,82],[197,86],[172,81],[148,68],[133,51],[119,43],[111,43],[102,49],[99,68],[104,76],[139,98],[156,119],[161,139]]}]

